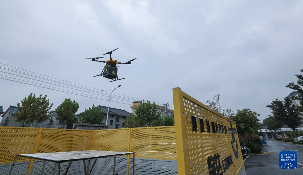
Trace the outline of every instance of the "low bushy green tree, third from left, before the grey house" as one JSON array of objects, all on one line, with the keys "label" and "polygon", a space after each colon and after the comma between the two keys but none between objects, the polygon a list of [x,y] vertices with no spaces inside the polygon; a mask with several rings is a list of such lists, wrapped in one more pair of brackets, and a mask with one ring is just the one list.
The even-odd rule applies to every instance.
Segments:
[{"label": "low bushy green tree, third from left, before the grey house", "polygon": [[85,111],[79,115],[79,121],[88,124],[103,124],[104,118],[105,115],[101,106],[95,107],[95,104],[92,105],[92,108],[89,107],[88,110],[85,108]]}]

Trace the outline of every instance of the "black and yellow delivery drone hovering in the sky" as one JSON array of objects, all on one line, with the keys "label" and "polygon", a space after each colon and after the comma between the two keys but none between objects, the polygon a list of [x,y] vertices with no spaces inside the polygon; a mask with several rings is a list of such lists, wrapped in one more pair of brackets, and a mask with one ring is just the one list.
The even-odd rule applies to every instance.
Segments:
[{"label": "black and yellow delivery drone hovering in the sky", "polygon": [[[118,48],[116,48],[115,50],[117,50],[117,49]],[[93,76],[93,77],[103,76],[105,78],[111,79],[112,81],[125,79],[125,78],[120,78],[120,79],[118,78],[118,68],[117,67],[119,67],[119,66],[117,66],[117,64],[131,64],[131,62],[134,61],[137,58],[129,60],[125,63],[118,62],[117,60],[112,59],[112,52],[115,51],[115,50],[112,50],[112,51],[109,51],[109,52],[106,53],[106,54],[109,54],[109,56],[110,56],[110,59],[106,60],[106,61],[97,60],[99,58],[104,58],[104,57],[85,58],[85,59],[92,59],[92,61],[98,61],[98,62],[106,63],[102,72],[101,72],[101,74]],[[103,54],[103,55],[106,55],[106,54]],[[112,81],[108,81],[108,82],[112,82]]]}]

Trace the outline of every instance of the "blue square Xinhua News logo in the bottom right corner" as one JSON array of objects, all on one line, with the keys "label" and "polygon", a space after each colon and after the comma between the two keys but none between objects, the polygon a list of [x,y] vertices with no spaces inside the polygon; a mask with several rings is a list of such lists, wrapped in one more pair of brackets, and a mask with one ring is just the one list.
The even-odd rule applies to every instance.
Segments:
[{"label": "blue square Xinhua News logo in the bottom right corner", "polygon": [[296,169],[297,153],[295,151],[281,151],[279,162],[281,169]]}]

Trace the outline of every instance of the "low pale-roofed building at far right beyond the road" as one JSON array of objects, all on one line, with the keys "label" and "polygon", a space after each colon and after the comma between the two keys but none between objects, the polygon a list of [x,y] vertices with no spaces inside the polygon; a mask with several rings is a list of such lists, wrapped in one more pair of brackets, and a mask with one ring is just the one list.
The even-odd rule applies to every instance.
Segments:
[{"label": "low pale-roofed building at far right beyond the road", "polygon": [[[299,125],[296,129],[298,130],[303,130],[303,125]],[[290,127],[288,127],[287,125],[284,125],[281,128],[282,132],[280,130],[277,131],[273,131],[273,130],[269,130],[267,128],[267,126],[262,127],[261,130],[259,130],[258,135],[259,136],[263,136],[265,139],[274,139],[277,138],[278,135],[282,135],[284,137],[290,137],[286,134],[286,131],[292,131],[292,129]]]}]

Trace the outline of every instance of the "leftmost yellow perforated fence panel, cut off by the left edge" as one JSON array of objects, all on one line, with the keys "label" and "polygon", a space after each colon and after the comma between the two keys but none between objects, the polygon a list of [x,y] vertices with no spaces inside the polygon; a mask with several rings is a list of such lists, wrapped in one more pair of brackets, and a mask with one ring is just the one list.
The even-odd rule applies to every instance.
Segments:
[{"label": "leftmost yellow perforated fence panel, cut off by the left edge", "polygon": [[[39,128],[0,127],[0,164],[12,163],[16,154],[33,152]],[[18,158],[19,161],[28,161]]]}]

